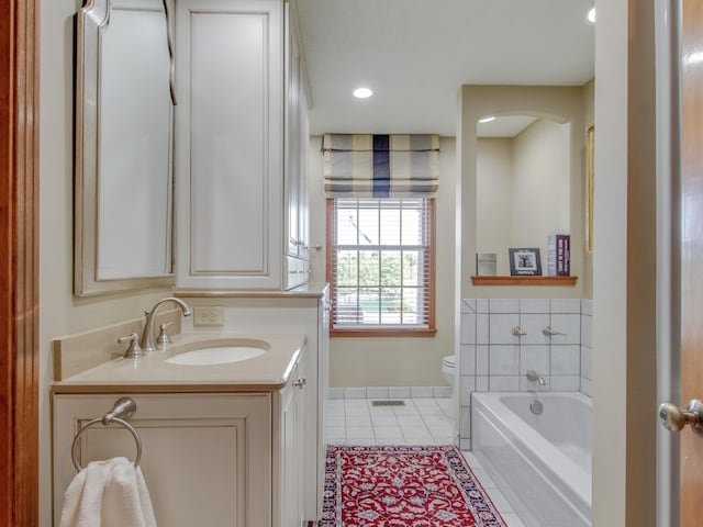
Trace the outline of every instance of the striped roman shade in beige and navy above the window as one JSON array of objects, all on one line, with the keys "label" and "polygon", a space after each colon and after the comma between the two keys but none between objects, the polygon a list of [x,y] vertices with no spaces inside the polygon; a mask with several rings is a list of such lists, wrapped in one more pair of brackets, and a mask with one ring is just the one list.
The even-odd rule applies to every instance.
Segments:
[{"label": "striped roman shade in beige and navy above the window", "polygon": [[431,198],[438,186],[439,136],[325,134],[330,198]]}]

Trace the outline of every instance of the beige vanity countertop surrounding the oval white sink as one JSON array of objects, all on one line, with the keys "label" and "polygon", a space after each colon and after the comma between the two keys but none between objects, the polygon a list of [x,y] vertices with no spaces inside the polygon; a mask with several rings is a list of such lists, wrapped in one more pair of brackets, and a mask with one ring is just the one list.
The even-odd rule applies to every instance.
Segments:
[{"label": "beige vanity countertop surrounding the oval white sink", "polygon": [[[271,391],[283,388],[305,344],[304,335],[186,333],[167,349],[140,359],[119,358],[54,382],[54,393]],[[252,359],[210,366],[179,366],[166,359],[193,349],[261,345]]]}]

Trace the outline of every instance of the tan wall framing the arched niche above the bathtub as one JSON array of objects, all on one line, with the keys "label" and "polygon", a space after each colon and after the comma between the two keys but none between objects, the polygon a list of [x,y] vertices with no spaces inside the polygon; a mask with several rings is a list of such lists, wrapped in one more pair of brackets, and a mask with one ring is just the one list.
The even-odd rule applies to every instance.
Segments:
[{"label": "tan wall framing the arched niche above the bathtub", "polygon": [[582,298],[581,280],[576,287],[475,287],[477,234],[477,136],[476,122],[482,115],[526,114],[570,124],[569,186],[571,273],[584,272],[583,223],[583,125],[580,87],[464,86],[459,91],[457,159],[460,173],[462,298]]}]

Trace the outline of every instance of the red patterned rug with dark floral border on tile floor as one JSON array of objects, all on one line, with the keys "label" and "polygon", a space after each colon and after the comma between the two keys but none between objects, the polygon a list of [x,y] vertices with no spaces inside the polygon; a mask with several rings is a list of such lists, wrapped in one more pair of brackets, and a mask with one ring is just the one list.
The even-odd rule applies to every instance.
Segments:
[{"label": "red patterned rug with dark floral border on tile floor", "polygon": [[320,527],[506,527],[453,446],[328,446]]}]

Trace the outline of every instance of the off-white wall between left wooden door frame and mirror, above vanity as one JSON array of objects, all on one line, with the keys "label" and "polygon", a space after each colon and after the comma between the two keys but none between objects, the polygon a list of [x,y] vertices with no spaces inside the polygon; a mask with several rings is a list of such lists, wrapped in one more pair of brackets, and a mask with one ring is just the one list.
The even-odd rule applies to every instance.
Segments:
[{"label": "off-white wall between left wooden door frame and mirror, above vanity", "polygon": [[[167,290],[72,296],[74,15],[80,0],[41,1],[40,71],[40,515],[51,525],[51,340],[135,318]],[[125,212],[129,203],[125,203]]]}]

